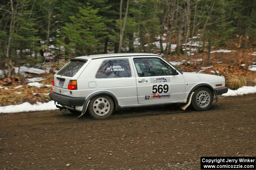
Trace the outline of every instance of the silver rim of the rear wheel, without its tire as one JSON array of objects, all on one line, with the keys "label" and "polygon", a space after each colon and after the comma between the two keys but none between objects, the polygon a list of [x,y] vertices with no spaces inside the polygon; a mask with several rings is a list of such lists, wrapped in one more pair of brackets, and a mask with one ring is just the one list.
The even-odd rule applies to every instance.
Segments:
[{"label": "silver rim of the rear wheel, without its tire", "polygon": [[104,116],[108,114],[110,110],[109,101],[106,98],[99,97],[94,101],[93,111],[98,116]]}]

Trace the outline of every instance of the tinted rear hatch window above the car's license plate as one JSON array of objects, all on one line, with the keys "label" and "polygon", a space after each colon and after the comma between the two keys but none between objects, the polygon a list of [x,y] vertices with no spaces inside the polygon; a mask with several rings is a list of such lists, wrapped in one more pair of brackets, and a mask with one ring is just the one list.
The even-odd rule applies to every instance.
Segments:
[{"label": "tinted rear hatch window above the car's license plate", "polygon": [[57,73],[57,75],[73,77],[85,63],[86,60],[71,60]]}]

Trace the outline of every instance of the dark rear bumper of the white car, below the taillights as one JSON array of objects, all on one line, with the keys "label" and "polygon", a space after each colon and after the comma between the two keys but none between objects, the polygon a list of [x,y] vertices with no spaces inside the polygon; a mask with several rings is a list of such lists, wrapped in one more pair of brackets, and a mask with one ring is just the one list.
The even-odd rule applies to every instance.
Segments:
[{"label": "dark rear bumper of the white car, below the taillights", "polygon": [[83,106],[85,97],[70,97],[65,96],[63,94],[58,93],[50,93],[49,94],[50,99],[53,101],[56,101],[58,104],[61,104],[63,106]]}]

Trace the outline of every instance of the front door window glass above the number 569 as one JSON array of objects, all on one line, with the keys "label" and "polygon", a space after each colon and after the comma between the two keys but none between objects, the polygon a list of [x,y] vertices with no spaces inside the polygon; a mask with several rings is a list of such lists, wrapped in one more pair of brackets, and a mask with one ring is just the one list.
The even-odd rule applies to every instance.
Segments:
[{"label": "front door window glass above the number 569", "polygon": [[139,77],[172,75],[172,69],[159,58],[134,58]]}]

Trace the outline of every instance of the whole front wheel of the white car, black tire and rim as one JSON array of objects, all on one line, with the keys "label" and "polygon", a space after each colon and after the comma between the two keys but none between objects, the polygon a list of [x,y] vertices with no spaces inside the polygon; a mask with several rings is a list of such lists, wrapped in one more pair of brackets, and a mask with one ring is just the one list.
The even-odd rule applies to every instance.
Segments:
[{"label": "whole front wheel of the white car, black tire and rim", "polygon": [[192,107],[197,111],[208,110],[213,101],[212,91],[207,87],[199,87],[192,96]]}]

